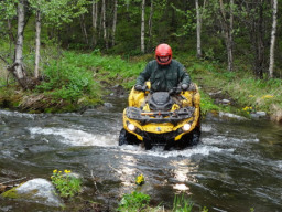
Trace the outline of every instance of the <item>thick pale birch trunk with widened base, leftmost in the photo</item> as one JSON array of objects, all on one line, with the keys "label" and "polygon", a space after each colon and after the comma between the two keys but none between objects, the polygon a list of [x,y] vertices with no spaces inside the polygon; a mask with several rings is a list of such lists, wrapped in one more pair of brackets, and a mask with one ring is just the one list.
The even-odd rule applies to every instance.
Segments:
[{"label": "thick pale birch trunk with widened base, leftmost in the photo", "polygon": [[24,30],[24,3],[25,0],[20,0],[18,3],[18,35],[15,44],[14,63],[10,71],[13,73],[19,84],[23,88],[28,88],[25,82],[25,72],[23,68],[23,30]]}]

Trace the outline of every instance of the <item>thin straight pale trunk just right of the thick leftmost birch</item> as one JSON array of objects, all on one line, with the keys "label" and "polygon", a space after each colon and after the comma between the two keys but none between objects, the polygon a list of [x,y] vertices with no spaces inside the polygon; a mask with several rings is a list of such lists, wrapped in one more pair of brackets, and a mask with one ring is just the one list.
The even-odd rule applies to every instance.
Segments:
[{"label": "thin straight pale trunk just right of the thick leftmost birch", "polygon": [[39,78],[40,76],[40,35],[41,35],[41,12],[36,11],[36,38],[35,38],[35,67],[34,67],[34,77]]}]

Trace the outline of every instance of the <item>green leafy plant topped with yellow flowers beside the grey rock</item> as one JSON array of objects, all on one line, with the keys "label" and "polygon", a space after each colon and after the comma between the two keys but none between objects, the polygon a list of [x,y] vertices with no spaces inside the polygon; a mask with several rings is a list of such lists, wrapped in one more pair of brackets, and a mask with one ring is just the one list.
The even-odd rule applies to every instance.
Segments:
[{"label": "green leafy plant topped with yellow flowers beside the grey rock", "polygon": [[62,198],[73,198],[82,191],[82,180],[70,176],[70,170],[54,170],[51,180]]}]

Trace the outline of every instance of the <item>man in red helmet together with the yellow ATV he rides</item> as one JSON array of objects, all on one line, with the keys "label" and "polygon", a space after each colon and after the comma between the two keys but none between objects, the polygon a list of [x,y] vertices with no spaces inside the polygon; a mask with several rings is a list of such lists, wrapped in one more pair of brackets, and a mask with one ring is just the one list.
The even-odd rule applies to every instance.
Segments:
[{"label": "man in red helmet together with the yellow ATV he rides", "polygon": [[119,145],[185,148],[199,141],[199,93],[172,49],[160,44],[129,95]]}]

